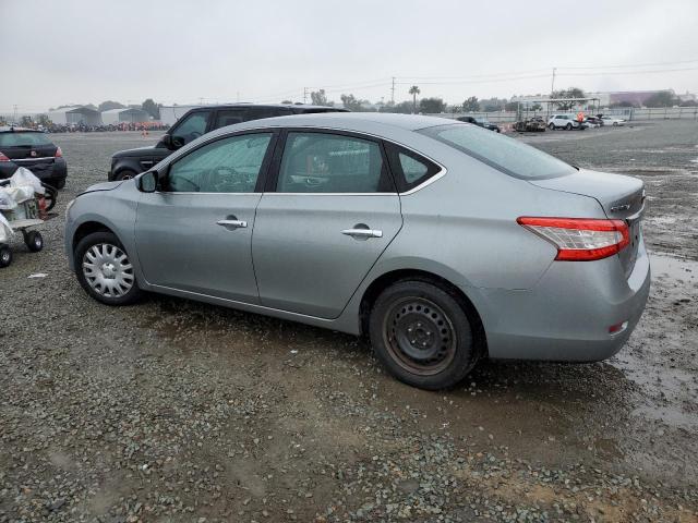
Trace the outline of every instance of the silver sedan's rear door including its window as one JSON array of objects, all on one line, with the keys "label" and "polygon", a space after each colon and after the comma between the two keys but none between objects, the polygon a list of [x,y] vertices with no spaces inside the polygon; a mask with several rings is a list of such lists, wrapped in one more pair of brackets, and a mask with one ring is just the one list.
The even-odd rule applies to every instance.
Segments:
[{"label": "silver sedan's rear door including its window", "polygon": [[261,304],[335,318],[402,226],[380,142],[298,130],[277,147],[252,256]]}]

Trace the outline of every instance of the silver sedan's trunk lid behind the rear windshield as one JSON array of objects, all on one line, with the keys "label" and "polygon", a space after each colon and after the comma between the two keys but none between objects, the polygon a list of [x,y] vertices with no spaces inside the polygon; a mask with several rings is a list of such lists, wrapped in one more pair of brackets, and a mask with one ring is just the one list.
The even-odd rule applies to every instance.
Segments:
[{"label": "silver sedan's trunk lid behind the rear windshield", "polygon": [[645,183],[641,180],[579,169],[565,177],[531,180],[530,183],[552,191],[590,196],[601,204],[609,219],[625,220],[630,230],[630,245],[618,253],[618,258],[626,278],[630,276],[637,258],[640,221],[645,210]]}]

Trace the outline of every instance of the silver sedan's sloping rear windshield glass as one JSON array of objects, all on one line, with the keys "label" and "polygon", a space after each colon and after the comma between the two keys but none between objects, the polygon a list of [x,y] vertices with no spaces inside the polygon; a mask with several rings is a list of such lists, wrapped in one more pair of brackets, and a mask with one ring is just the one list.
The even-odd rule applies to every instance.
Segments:
[{"label": "silver sedan's sloping rear windshield glass", "polygon": [[537,180],[576,172],[575,168],[518,139],[467,124],[421,129],[425,134],[515,178]]}]

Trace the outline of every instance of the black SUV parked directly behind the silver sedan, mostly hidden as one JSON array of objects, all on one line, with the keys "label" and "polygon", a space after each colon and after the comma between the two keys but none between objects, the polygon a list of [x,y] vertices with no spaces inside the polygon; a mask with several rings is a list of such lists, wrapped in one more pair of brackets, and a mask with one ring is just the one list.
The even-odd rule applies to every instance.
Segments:
[{"label": "black SUV parked directly behind the silver sedan, mostly hidden", "polygon": [[196,139],[214,129],[262,118],[308,114],[311,112],[347,112],[334,107],[300,104],[278,104],[260,106],[256,104],[231,104],[226,106],[204,106],[192,109],[151,147],[120,150],[111,157],[109,181],[125,180],[147,171],[174,150]]}]

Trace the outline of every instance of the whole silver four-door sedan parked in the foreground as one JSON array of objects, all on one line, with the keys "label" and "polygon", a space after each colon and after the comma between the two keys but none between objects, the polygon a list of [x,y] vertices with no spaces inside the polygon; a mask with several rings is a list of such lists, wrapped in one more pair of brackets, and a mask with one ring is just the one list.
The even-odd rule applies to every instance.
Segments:
[{"label": "whole silver four-door sedan parked in the foreground", "polygon": [[642,182],[438,118],[329,113],[206,134],[69,207],[94,299],[142,291],[365,335],[399,379],[482,356],[616,353],[650,285]]}]

